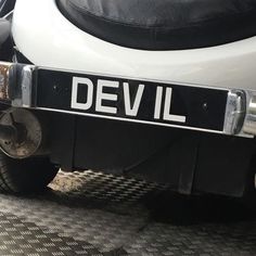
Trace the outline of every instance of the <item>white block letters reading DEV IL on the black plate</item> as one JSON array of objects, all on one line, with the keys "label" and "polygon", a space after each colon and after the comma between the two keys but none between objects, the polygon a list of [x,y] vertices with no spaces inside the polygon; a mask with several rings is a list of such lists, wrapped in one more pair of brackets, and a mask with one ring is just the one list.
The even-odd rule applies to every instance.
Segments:
[{"label": "white block letters reading DEV IL on the black plate", "polygon": [[[139,85],[136,94],[132,97],[130,93],[130,85],[128,82],[123,82],[121,85],[119,81],[116,80],[105,80],[99,79],[97,82],[97,90],[93,90],[92,80],[89,78],[82,77],[74,77],[73,85],[72,85],[72,108],[88,111],[90,110],[93,104],[93,99],[95,99],[95,112],[106,113],[106,114],[117,114],[117,102],[118,95],[121,93],[111,93],[110,91],[106,92],[106,89],[113,88],[118,89],[124,92],[124,110],[126,116],[138,116],[141,102],[143,100],[143,93],[145,90],[144,85]],[[84,99],[85,102],[78,102],[78,88],[86,87],[87,89],[87,97]],[[95,97],[93,97],[95,93]],[[135,98],[133,104],[131,103],[131,98]],[[163,119],[167,121],[176,121],[176,123],[185,123],[187,117],[182,115],[175,115],[171,114],[171,98],[172,98],[172,88],[167,87],[164,92],[164,87],[157,86],[156,94],[155,94],[155,102],[154,104],[154,119]],[[108,103],[112,103],[112,106]],[[120,101],[121,102],[121,101]],[[162,106],[163,115],[162,115]],[[153,117],[153,116],[152,116]]]}]

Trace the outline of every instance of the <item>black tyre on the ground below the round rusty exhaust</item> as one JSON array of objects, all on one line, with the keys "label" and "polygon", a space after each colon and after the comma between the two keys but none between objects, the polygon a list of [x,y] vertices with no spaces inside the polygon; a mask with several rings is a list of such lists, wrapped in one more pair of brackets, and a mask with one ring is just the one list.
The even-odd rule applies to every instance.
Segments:
[{"label": "black tyre on the ground below the round rusty exhaust", "polygon": [[47,157],[14,159],[0,152],[0,191],[42,191],[56,176],[57,170]]}]

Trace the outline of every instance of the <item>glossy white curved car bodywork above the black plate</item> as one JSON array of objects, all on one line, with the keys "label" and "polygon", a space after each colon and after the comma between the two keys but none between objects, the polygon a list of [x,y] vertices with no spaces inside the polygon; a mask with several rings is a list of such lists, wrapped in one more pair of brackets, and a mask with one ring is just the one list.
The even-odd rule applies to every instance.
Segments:
[{"label": "glossy white curved car bodywork above the black plate", "polygon": [[128,49],[80,30],[54,0],[17,0],[12,34],[17,49],[38,66],[256,90],[256,37],[195,50]]}]

